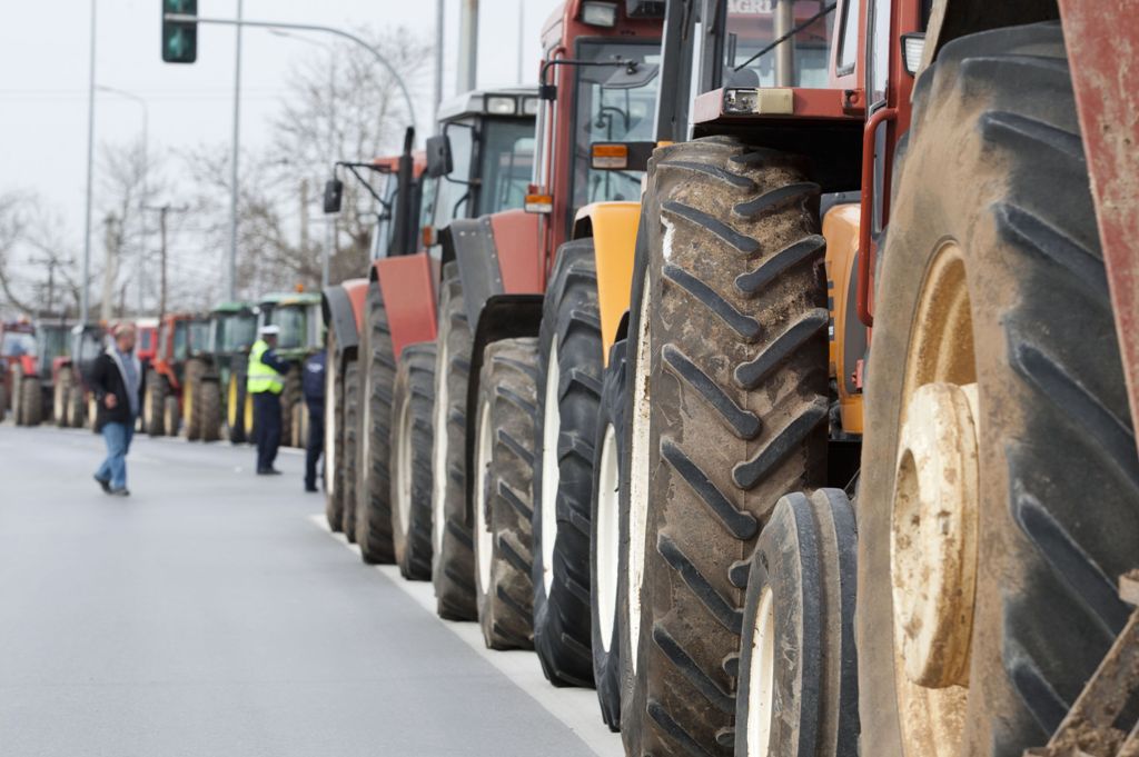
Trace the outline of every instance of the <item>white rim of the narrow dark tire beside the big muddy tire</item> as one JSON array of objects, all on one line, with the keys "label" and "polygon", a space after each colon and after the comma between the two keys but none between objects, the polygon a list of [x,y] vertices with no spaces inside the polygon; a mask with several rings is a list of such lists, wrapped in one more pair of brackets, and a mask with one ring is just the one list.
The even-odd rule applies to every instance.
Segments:
[{"label": "white rim of the narrow dark tire beside the big muddy tire", "polygon": [[606,423],[601,437],[601,458],[597,469],[597,594],[598,623],[601,649],[609,651],[613,624],[617,612],[617,561],[621,541],[618,533],[621,467],[617,461],[617,435],[612,423]]}]

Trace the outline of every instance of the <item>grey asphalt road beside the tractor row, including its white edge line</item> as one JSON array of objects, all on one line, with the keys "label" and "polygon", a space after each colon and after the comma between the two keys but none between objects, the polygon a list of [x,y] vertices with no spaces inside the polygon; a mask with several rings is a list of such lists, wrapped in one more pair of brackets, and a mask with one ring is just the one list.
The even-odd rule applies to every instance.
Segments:
[{"label": "grey asphalt road beside the tractor row, including its white edge line", "polygon": [[304,494],[303,458],[136,437],[132,496],[90,431],[0,425],[0,754],[620,755],[596,694],[439,620]]}]

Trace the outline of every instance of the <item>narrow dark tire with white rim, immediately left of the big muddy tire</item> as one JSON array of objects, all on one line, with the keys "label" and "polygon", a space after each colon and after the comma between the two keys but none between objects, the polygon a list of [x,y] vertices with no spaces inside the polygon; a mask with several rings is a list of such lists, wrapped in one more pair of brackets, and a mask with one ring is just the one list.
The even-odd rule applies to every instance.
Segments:
[{"label": "narrow dark tire with white rim, immediately left of the big muddy tire", "polygon": [[612,731],[621,730],[621,698],[631,683],[622,668],[621,640],[626,632],[621,630],[621,614],[617,611],[624,603],[625,582],[621,581],[621,576],[629,559],[629,535],[625,533],[625,519],[621,517],[621,494],[629,488],[626,353],[624,339],[613,345],[601,381],[589,512],[593,682],[601,719]]}]

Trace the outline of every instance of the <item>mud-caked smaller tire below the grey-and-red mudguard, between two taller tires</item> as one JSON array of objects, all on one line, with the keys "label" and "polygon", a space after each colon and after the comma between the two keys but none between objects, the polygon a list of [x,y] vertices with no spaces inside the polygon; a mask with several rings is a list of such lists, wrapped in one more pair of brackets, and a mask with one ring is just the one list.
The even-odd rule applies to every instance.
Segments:
[{"label": "mud-caked smaller tire below the grey-and-red mudguard, between two taller tires", "polygon": [[531,649],[534,415],[538,340],[505,339],[483,353],[475,419],[475,600],[491,649]]}]

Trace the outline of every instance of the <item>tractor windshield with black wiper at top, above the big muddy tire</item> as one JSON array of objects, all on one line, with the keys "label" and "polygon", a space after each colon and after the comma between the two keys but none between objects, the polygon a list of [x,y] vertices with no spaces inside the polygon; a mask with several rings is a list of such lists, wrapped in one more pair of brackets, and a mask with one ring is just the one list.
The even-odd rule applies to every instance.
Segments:
[{"label": "tractor windshield with black wiper at top, above the big muddy tire", "polygon": [[[826,88],[834,18],[827,8],[826,0],[730,0],[723,85]],[[755,57],[802,24],[788,41]]]}]

